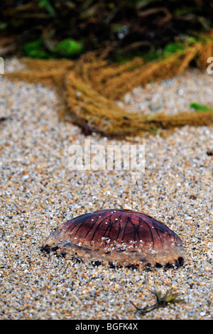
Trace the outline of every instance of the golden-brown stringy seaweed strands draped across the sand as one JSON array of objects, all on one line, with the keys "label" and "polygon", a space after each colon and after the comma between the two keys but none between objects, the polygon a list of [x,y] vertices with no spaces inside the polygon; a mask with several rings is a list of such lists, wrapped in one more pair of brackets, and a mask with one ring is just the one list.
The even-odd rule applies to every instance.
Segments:
[{"label": "golden-brown stringy seaweed strands draped across the sand", "polygon": [[126,92],[148,82],[165,80],[182,73],[195,61],[197,68],[207,66],[207,55],[212,55],[212,40],[185,43],[184,48],[146,63],[143,58],[133,58],[126,63],[111,63],[95,52],[82,55],[77,60],[23,60],[26,70],[6,73],[14,80],[40,82],[55,85],[64,107],[60,119],[89,129],[88,134],[97,132],[109,137],[158,134],[158,130],[176,127],[210,126],[213,121],[213,108],[191,104],[196,112],[178,114],[155,113],[144,116],[121,109],[116,99]]}]

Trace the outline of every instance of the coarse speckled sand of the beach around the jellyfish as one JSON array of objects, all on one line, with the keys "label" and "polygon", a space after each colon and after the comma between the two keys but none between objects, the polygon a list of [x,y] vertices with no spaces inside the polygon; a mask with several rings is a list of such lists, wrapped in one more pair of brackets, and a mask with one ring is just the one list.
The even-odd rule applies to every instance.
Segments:
[{"label": "coarse speckled sand of the beach around the jellyfish", "polygon": [[[5,72],[17,66],[18,60],[10,60]],[[162,95],[168,112],[175,99],[179,109],[195,101],[210,104],[212,80],[207,72],[189,70],[159,84],[157,97],[156,84],[153,90],[148,86],[145,104],[140,87],[120,103],[143,112],[153,92],[152,108],[160,111]],[[85,136],[58,119],[62,102],[55,91],[1,75],[0,99],[0,318],[212,319],[212,128],[185,126],[166,136],[136,137],[146,151],[145,173],[137,179],[122,169],[72,171],[70,145],[84,146]],[[97,134],[86,138],[104,147],[125,143]],[[182,240],[185,264],[114,269],[40,252],[62,222],[104,208],[138,210],[165,222]],[[142,308],[155,302],[154,291],[170,289],[184,301],[143,316],[130,302]]]}]

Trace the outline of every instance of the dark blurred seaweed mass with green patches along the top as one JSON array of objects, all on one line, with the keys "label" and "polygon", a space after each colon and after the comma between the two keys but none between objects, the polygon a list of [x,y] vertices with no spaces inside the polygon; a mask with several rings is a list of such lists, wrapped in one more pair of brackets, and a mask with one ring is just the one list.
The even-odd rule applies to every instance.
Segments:
[{"label": "dark blurred seaweed mass with green patches along the top", "polygon": [[1,2],[1,35],[15,37],[14,48],[4,50],[6,55],[25,55],[23,45],[48,33],[51,43],[84,40],[83,53],[104,50],[110,60],[122,61],[149,51],[155,57],[165,45],[170,44],[166,52],[173,52],[178,43],[181,48],[182,36],[197,39],[197,34],[212,28],[212,0],[195,4],[192,0]]}]

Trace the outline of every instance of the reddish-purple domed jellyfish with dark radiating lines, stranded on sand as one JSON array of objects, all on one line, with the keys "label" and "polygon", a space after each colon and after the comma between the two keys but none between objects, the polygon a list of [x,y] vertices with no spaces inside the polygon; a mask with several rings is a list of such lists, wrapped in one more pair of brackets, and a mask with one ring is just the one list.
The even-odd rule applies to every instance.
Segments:
[{"label": "reddish-purple domed jellyfish with dark radiating lines, stranded on sand", "polygon": [[180,237],[142,212],[100,210],[69,220],[44,242],[45,252],[118,266],[182,266]]}]

